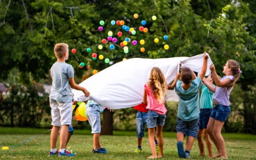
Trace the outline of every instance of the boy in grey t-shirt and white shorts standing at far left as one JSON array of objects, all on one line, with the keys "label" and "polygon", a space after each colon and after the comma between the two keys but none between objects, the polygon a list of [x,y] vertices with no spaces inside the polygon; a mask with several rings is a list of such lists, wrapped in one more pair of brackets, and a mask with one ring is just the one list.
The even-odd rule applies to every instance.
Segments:
[{"label": "boy in grey t-shirt and white shorts standing at far left", "polygon": [[[68,58],[68,45],[65,43],[58,43],[54,47],[54,53],[57,58],[51,67],[52,87],[49,95],[51,116],[52,116],[52,131],[51,131],[51,151],[49,155],[58,156],[75,156],[75,154],[66,152],[65,146],[68,136],[68,126],[72,121],[72,101],[73,95],[71,88],[81,90],[85,96],[90,93],[84,88],[77,85],[74,81],[74,69],[70,64],[65,63]],[[57,152],[56,143],[58,133],[62,126],[60,133],[60,150]]]}]

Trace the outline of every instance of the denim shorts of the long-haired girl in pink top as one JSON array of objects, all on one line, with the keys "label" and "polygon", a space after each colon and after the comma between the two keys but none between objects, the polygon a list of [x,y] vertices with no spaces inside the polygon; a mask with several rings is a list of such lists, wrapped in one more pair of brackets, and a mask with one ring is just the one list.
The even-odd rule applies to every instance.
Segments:
[{"label": "denim shorts of the long-haired girl in pink top", "polygon": [[148,111],[148,121],[147,128],[155,128],[158,126],[163,126],[165,121],[166,114],[159,114],[156,111]]}]

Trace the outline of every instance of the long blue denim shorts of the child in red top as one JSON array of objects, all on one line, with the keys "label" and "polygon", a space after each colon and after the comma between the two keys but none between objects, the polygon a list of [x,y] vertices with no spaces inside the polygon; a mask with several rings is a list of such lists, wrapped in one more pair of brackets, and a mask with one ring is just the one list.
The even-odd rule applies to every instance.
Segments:
[{"label": "long blue denim shorts of the child in red top", "polygon": [[138,111],[136,115],[136,133],[138,138],[144,137],[144,128],[147,124],[148,112]]}]

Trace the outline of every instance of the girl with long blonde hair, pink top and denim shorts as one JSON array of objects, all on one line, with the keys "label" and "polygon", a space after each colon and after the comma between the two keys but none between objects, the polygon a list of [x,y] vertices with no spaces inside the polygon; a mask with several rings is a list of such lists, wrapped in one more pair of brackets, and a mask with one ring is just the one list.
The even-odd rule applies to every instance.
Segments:
[{"label": "girl with long blonde hair, pink top and denim shorts", "polygon": [[[153,67],[149,81],[144,85],[143,103],[147,104],[148,111],[147,128],[149,133],[149,144],[152,155],[148,159],[162,157],[163,137],[162,128],[165,120],[166,108],[164,106],[164,96],[166,95],[167,84],[160,68]],[[157,127],[157,137],[159,140],[159,155],[156,152],[155,128]]]}]

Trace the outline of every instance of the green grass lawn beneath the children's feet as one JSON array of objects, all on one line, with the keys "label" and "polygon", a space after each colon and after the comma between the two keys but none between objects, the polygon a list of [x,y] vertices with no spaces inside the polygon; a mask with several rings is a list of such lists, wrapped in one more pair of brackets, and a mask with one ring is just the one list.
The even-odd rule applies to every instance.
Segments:
[{"label": "green grass lawn beneath the children's feet", "polygon": [[[0,127],[0,148],[8,146],[9,150],[0,150],[0,160],[55,160],[67,159],[57,156],[48,157],[50,150],[50,132],[40,134],[47,129],[23,129]],[[67,145],[76,156],[73,160],[146,160],[151,155],[146,136],[142,142],[143,152],[135,154],[137,147],[136,132],[114,132],[114,135],[101,135],[103,147],[109,151],[107,154],[93,154],[93,136],[91,131],[75,130]],[[181,160],[176,149],[176,134],[164,132],[164,149],[161,160]],[[227,156],[229,160],[256,160],[256,135],[224,133]],[[20,144],[20,145],[19,145]],[[213,147],[214,153],[216,152]],[[207,152],[207,151],[206,151]],[[196,139],[194,141],[191,157],[194,160],[208,160],[199,157]]]}]

